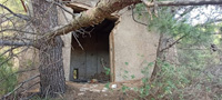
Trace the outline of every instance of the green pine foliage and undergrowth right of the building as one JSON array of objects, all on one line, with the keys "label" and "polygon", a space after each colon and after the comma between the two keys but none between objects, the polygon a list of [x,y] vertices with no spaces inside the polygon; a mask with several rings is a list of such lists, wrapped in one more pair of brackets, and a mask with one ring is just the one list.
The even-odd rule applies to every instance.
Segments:
[{"label": "green pine foliage and undergrowth right of the building", "polygon": [[[143,4],[137,6],[135,11],[139,18],[144,16],[141,13],[144,8]],[[174,8],[161,8],[158,16],[145,16],[149,31],[163,33],[173,40],[185,36],[175,43],[179,62],[158,60],[157,64],[161,70],[154,81],[149,79],[149,68],[155,62],[148,64],[142,71],[145,76],[142,80],[144,86],[137,91],[141,98],[149,100],[196,100],[203,99],[203,94],[206,94],[206,98],[220,100],[222,91],[216,89],[222,86],[222,77],[215,74],[215,70],[209,70],[221,68],[219,64],[221,51],[220,49],[212,51],[211,48],[212,44],[220,47],[221,38],[213,36],[220,31],[220,24],[208,22],[192,24],[188,21],[189,17],[178,20],[172,9]]]}]

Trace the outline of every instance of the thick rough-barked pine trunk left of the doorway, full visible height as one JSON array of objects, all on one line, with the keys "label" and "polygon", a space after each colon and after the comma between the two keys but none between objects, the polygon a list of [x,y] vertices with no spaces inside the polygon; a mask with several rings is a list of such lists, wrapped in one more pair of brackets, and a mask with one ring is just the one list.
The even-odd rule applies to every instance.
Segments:
[{"label": "thick rough-barked pine trunk left of the doorway, full visible height", "polygon": [[[43,33],[53,30],[58,26],[57,7],[46,0],[32,0],[33,16],[37,19],[33,22],[37,33]],[[60,36],[50,40],[42,38],[37,41],[40,58],[40,94],[42,97],[56,97],[65,92],[65,80],[62,61],[63,41]]]}]

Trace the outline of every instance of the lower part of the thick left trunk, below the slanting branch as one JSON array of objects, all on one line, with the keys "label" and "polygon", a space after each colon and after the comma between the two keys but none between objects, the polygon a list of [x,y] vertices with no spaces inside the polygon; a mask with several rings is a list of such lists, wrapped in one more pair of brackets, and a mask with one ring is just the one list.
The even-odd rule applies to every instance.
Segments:
[{"label": "lower part of the thick left trunk, below the slanting branch", "polygon": [[56,97],[65,92],[64,70],[62,62],[62,40],[46,41],[40,47],[40,92],[42,97]]}]

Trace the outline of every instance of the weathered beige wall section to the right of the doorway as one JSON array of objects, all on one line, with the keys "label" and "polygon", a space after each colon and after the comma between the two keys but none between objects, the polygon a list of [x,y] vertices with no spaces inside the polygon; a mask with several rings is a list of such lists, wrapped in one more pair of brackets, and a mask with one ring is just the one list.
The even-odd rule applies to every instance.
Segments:
[{"label": "weathered beige wall section to the right of the doorway", "polygon": [[[113,30],[114,80],[141,79],[144,77],[142,69],[155,60],[159,36],[137,23],[131,10],[123,9],[120,14],[120,22]],[[153,68],[149,70],[151,74]]]}]

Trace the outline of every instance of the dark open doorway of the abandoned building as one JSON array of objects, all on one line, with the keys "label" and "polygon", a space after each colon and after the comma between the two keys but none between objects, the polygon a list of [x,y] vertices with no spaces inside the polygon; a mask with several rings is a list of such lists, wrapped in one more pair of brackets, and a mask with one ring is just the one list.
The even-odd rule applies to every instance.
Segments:
[{"label": "dark open doorway of the abandoned building", "polygon": [[[117,20],[115,20],[117,21]],[[110,81],[110,33],[115,21],[105,19],[94,27],[72,33],[70,80],[74,82]]]}]

